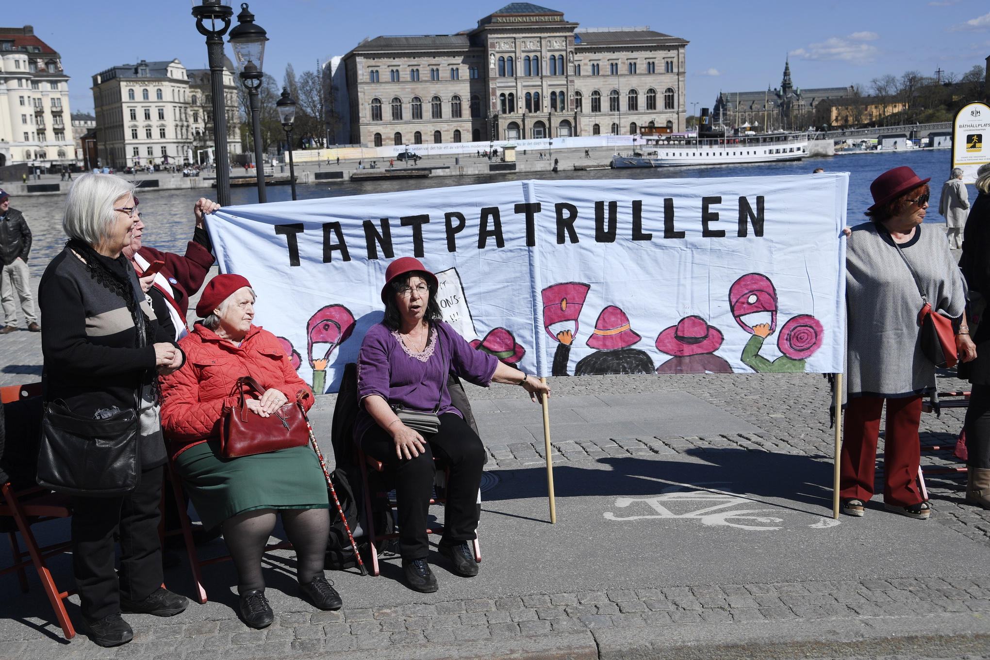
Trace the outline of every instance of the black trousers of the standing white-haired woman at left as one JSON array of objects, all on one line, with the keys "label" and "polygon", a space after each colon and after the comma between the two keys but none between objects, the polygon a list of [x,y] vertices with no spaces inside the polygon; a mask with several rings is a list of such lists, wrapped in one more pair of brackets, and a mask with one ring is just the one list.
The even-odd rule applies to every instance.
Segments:
[{"label": "black trousers of the standing white-haired woman at left", "polygon": [[[161,586],[158,505],[164,466],[146,470],[123,497],[72,498],[72,569],[80,609],[87,618],[121,611],[122,598],[142,601]],[[114,534],[120,570],[114,570]]]}]

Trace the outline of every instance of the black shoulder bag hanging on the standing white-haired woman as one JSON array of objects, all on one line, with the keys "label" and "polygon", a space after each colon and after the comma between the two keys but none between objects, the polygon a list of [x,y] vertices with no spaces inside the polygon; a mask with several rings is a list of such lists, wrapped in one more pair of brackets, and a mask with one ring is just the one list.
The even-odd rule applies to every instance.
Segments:
[{"label": "black shoulder bag hanging on the standing white-haired woman", "polygon": [[112,498],[141,483],[139,420],[125,410],[105,420],[83,418],[49,402],[42,418],[38,484],[69,495]]}]

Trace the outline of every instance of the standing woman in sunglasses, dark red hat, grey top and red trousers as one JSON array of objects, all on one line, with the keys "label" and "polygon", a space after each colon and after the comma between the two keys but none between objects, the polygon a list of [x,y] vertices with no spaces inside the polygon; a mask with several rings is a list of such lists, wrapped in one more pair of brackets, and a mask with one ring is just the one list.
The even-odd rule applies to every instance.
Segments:
[{"label": "standing woman in sunglasses, dark red hat, grey top and red trousers", "polygon": [[[871,222],[852,228],[845,250],[845,440],[842,513],[862,516],[873,497],[880,413],[887,404],[883,501],[887,511],[928,519],[918,485],[922,397],[936,389],[935,364],[921,348],[925,298],[952,319],[961,361],[976,357],[964,309],[966,287],[945,235],[925,227],[930,179],[895,167],[870,184]],[[916,283],[917,282],[917,283]]]}]

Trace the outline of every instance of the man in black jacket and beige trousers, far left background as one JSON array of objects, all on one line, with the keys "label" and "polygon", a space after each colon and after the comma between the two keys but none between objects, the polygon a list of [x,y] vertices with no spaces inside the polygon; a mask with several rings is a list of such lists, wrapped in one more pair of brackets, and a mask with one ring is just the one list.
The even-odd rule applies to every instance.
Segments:
[{"label": "man in black jacket and beige trousers, far left background", "polygon": [[0,333],[8,334],[17,330],[17,304],[14,296],[21,299],[21,310],[28,330],[42,331],[38,325],[35,310],[35,297],[31,294],[31,277],[28,274],[28,253],[31,252],[31,230],[24,216],[17,209],[10,208],[10,195],[0,190],[0,256],[3,257],[3,272],[0,273],[0,304],[3,305],[4,327]]}]

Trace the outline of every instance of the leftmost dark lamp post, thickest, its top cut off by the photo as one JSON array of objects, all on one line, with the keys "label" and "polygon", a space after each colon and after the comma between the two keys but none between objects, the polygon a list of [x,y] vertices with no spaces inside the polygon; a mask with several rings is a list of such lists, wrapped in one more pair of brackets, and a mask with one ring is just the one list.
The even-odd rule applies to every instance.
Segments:
[{"label": "leftmost dark lamp post, thickest, its top cut off by the photo", "polygon": [[[196,0],[192,0],[195,3]],[[216,147],[217,202],[231,205],[231,168],[227,154],[227,98],[224,92],[224,35],[231,27],[234,10],[230,0],[202,0],[193,5],[196,30],[206,37],[206,51],[210,61],[210,91],[213,95],[213,143]],[[224,4],[224,3],[228,4]],[[208,29],[204,21],[210,22]],[[218,26],[217,23],[222,23]]]}]

